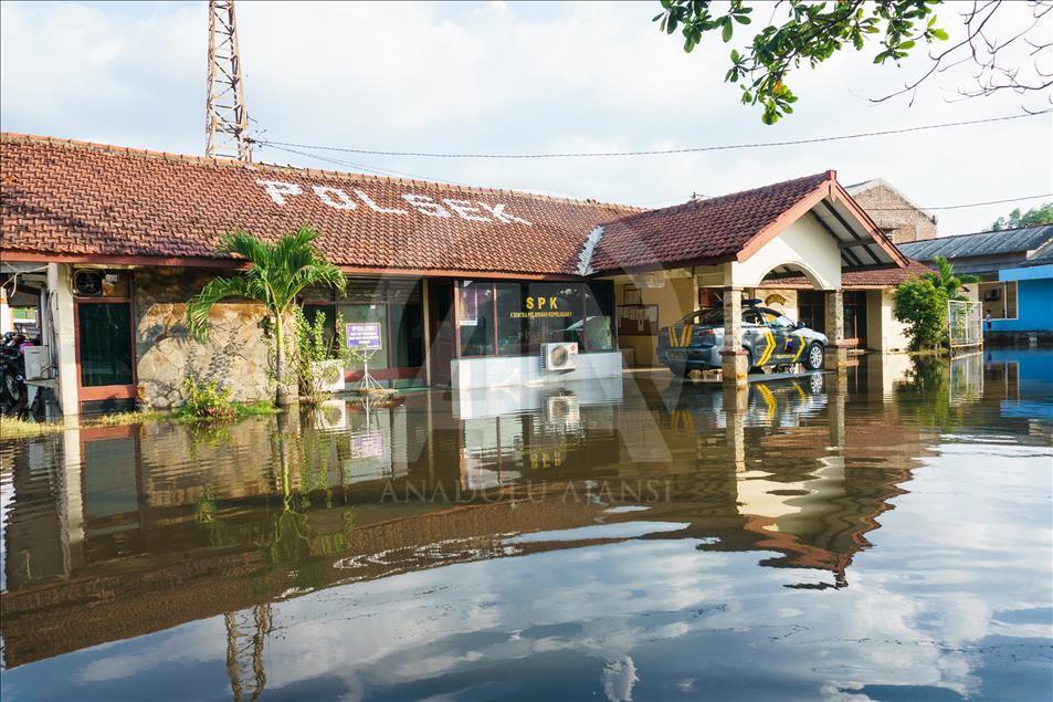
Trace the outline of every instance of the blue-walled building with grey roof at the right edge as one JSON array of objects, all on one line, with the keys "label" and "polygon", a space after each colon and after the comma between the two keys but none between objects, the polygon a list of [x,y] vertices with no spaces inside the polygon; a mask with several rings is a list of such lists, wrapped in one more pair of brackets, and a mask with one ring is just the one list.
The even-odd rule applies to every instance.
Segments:
[{"label": "blue-walled building with grey roof at the right edge", "polygon": [[940,237],[899,244],[912,259],[944,256],[980,276],[969,296],[983,305],[984,333],[1053,332],[1053,226]]}]

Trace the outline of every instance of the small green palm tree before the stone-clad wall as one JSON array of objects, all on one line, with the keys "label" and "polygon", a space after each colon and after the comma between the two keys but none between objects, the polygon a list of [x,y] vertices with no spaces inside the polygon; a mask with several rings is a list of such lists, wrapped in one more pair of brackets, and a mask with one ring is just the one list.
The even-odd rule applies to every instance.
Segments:
[{"label": "small green palm tree before the stone-clad wall", "polygon": [[296,295],[305,287],[329,285],[341,293],[345,290],[344,274],[314,247],[318,230],[301,227],[296,232],[284,234],[277,242],[268,243],[238,230],[220,237],[217,255],[234,254],[249,262],[249,268],[233,277],[217,277],[187,304],[187,326],[190,333],[203,340],[208,338],[209,312],[212,305],[227,297],[248,297],[263,304],[274,317],[275,363],[277,377],[276,400],[278,405],[292,401],[292,392],[285,378],[285,319]]}]

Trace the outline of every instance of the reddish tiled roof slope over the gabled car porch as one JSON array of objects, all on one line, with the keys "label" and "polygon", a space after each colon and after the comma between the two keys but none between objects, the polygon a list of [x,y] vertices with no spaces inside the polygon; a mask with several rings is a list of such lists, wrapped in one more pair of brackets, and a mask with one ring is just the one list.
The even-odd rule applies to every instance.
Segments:
[{"label": "reddish tiled roof slope over the gabled car porch", "polygon": [[597,271],[734,258],[787,210],[829,187],[826,171],[762,188],[622,217],[604,226]]}]

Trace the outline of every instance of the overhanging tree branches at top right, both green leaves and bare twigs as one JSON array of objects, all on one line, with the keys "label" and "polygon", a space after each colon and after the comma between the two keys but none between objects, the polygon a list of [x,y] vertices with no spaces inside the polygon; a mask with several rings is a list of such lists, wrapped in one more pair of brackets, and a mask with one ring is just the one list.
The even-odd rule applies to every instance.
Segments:
[{"label": "overhanging tree branches at top right, both green leaves and bare twigs", "polygon": [[[741,90],[744,104],[759,105],[764,109],[761,121],[765,124],[775,124],[793,112],[798,96],[789,87],[787,76],[801,65],[814,69],[841,49],[851,46],[863,51],[867,45],[873,48],[874,63],[898,63],[919,44],[947,41],[949,34],[939,27],[935,14],[941,2],[780,0],[762,3],[730,0],[725,4],[713,0],[661,0],[662,12],[654,17],[654,21],[660,22],[662,31],[668,34],[680,30],[684,36],[684,51],[691,52],[706,34],[715,32],[719,32],[724,43],[731,42],[736,29],[748,27],[757,19],[755,9],[770,9],[769,23],[764,29],[749,30],[756,32],[752,38],[731,49],[730,66],[724,80]],[[1030,27],[1008,40],[993,35],[988,27],[1002,7],[1000,0],[978,0],[955,7],[964,9],[965,38],[939,52],[930,52],[929,70],[904,85],[902,91],[875,102],[903,93],[913,94],[936,72],[965,61],[971,61],[977,67],[976,87],[961,91],[965,96],[988,95],[1001,90],[1044,91],[1053,85],[1053,76],[1042,67],[1053,51],[1053,41],[1045,31],[1053,11],[1050,0],[1030,0],[1030,17],[1024,20],[1031,22]],[[1029,35],[1036,41],[1029,40]],[[1033,67],[1000,57],[1007,46],[1019,41],[1028,43]]]}]

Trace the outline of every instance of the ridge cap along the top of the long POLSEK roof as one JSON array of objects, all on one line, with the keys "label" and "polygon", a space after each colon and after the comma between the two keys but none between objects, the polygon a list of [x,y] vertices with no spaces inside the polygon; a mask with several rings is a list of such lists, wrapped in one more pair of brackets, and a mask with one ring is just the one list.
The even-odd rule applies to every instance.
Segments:
[{"label": "ridge cap along the top of the long POLSEK roof", "polygon": [[568,205],[578,205],[586,207],[596,207],[596,208],[606,208],[621,210],[629,214],[646,212],[649,210],[632,205],[622,205],[618,202],[601,202],[592,198],[570,198],[570,197],[560,197],[554,195],[541,195],[538,192],[530,192],[528,190],[514,190],[508,188],[484,188],[481,186],[466,186],[462,184],[445,182],[442,180],[418,180],[415,178],[398,178],[392,176],[376,176],[371,174],[361,174],[356,171],[348,170],[330,170],[326,168],[309,168],[309,167],[298,167],[292,165],[282,166],[280,164],[271,164],[265,161],[257,163],[242,163],[231,158],[223,157],[209,157],[209,156],[193,156],[189,154],[178,154],[173,151],[159,151],[156,149],[145,149],[130,146],[117,146],[116,144],[105,144],[102,142],[85,142],[82,139],[70,139],[62,137],[53,136],[42,136],[35,134],[20,134],[17,132],[0,132],[0,143],[35,143],[35,144],[46,144],[50,146],[59,146],[64,148],[74,148],[74,149],[84,149],[92,151],[99,151],[103,154],[112,154],[115,156],[135,156],[139,158],[157,158],[161,160],[170,161],[180,161],[186,164],[199,164],[202,166],[213,166],[219,168],[244,168],[249,170],[271,170],[278,172],[298,172],[308,176],[319,176],[319,177],[338,177],[338,178],[354,178],[373,180],[373,181],[383,181],[383,182],[393,182],[398,185],[428,185],[428,186],[441,186],[451,190],[460,190],[463,192],[477,192],[477,193],[492,193],[492,195],[515,195],[525,198],[533,198],[536,200],[544,200],[549,202],[565,202]]}]

